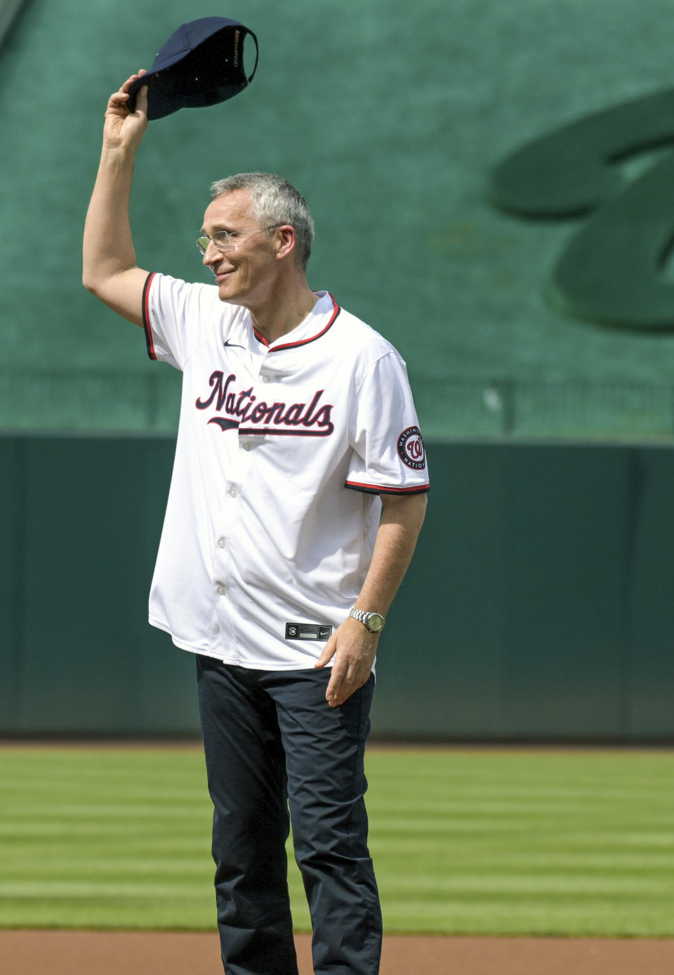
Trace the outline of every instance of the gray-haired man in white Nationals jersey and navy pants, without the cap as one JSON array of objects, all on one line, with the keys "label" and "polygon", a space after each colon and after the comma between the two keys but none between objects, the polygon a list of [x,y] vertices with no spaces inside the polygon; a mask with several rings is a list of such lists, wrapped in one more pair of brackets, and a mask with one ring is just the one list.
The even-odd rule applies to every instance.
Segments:
[{"label": "gray-haired man in white Nationals jersey and navy pants, without the cap", "polygon": [[375,975],[363,752],[379,632],[428,490],[404,364],[310,289],[312,217],[279,176],[213,185],[198,245],[214,286],[138,268],[137,77],[108,101],[84,283],[183,372],[149,618],[197,658],[223,963],[297,973],[289,805],[317,975]]}]

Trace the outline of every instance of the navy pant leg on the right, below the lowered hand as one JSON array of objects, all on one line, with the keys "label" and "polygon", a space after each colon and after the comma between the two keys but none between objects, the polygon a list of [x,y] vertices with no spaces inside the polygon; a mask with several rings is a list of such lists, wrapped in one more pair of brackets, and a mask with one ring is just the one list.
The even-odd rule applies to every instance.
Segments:
[{"label": "navy pant leg on the right, below the lowered hand", "polygon": [[285,751],[295,858],[313,926],[316,975],[376,975],[382,916],[367,848],[363,768],[374,678],[341,707],[329,670],[267,675]]}]

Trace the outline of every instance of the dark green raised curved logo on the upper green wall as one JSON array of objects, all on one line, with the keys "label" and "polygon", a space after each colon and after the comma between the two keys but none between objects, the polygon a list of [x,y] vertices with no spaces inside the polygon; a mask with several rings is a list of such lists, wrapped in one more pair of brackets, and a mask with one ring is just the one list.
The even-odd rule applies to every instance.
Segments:
[{"label": "dark green raised curved logo on the upper green wall", "polygon": [[618,164],[674,145],[674,89],[581,118],[529,142],[492,176],[509,213],[587,216],[549,284],[565,313],[629,329],[674,331],[674,153],[631,181]]}]

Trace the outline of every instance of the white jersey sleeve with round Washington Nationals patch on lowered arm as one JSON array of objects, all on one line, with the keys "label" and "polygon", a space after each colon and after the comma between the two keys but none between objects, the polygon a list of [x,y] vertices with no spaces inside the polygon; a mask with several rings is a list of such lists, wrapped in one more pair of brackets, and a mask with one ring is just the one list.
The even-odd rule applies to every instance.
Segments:
[{"label": "white jersey sleeve with round Washington Nationals patch on lowered arm", "polygon": [[356,392],[346,487],[374,494],[429,490],[426,450],[407,370],[392,350],[376,361]]}]

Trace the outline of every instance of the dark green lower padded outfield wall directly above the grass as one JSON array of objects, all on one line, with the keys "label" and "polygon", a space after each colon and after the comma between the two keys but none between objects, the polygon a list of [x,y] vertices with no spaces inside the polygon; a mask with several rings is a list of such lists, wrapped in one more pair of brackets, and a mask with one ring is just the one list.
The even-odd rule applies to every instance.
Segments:
[{"label": "dark green lower padded outfield wall directly above the grass", "polygon": [[[146,623],[171,438],[5,436],[2,734],[190,734],[193,659]],[[674,738],[674,451],[431,443],[429,516],[373,730]]]}]

